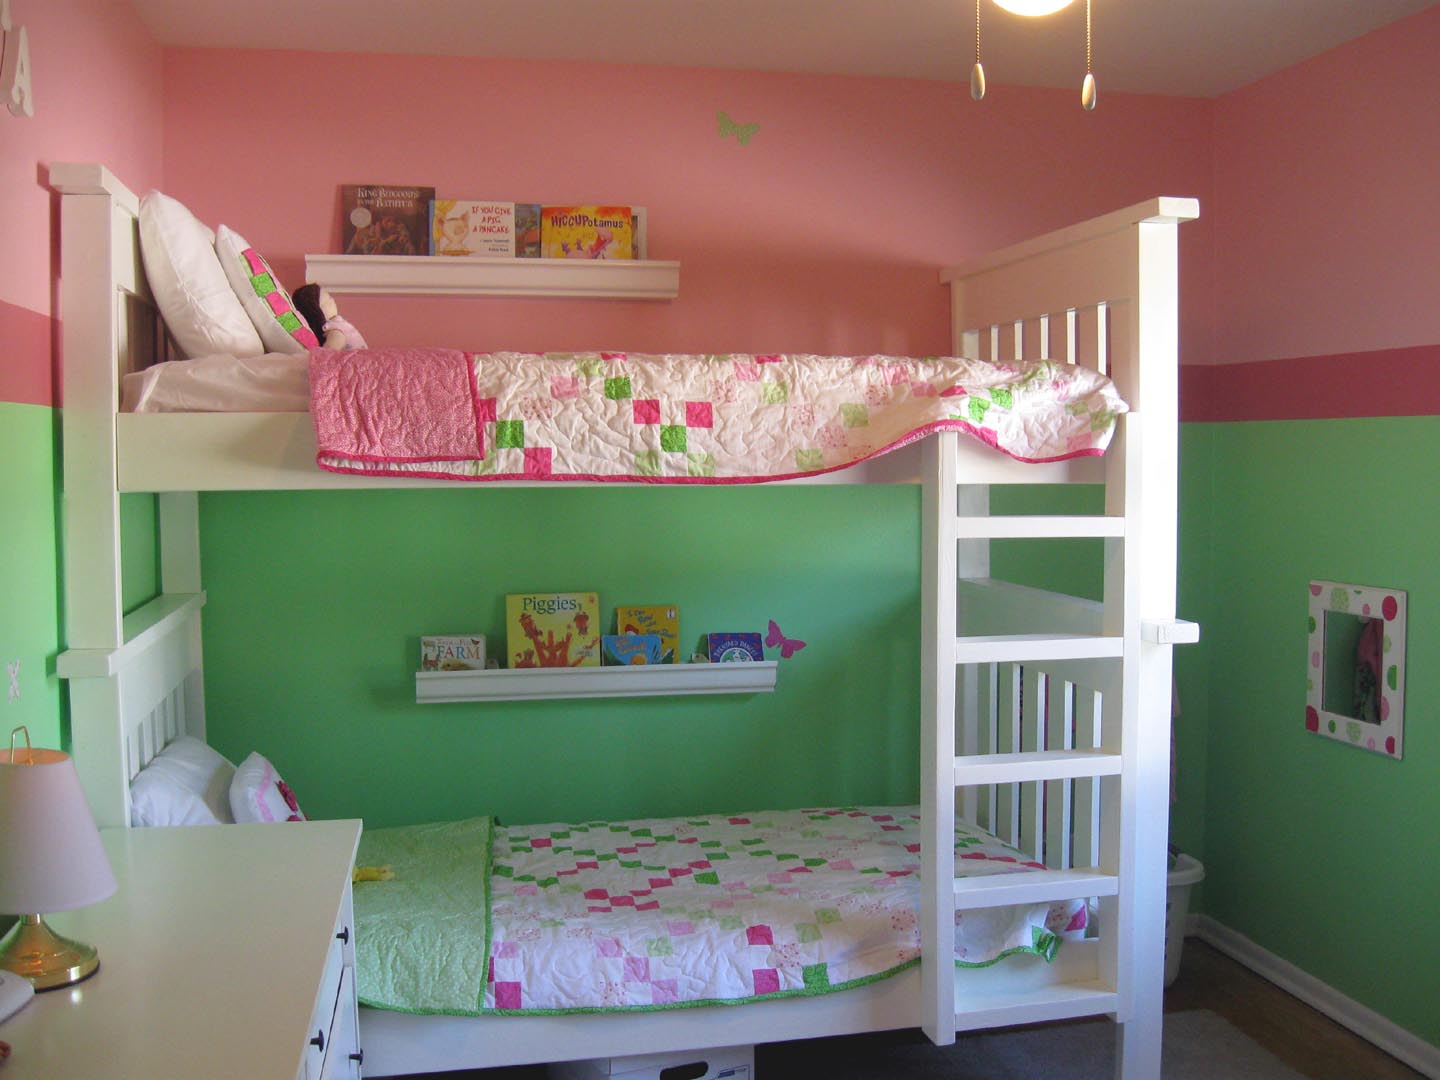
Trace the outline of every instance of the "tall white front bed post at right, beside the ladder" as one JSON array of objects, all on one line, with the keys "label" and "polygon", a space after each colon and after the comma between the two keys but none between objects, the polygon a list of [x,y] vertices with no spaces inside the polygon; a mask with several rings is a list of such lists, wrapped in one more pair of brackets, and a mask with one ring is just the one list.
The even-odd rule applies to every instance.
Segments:
[{"label": "tall white front bed post at right, beside the ladder", "polygon": [[[1194,216],[1194,215],[1191,215]],[[1125,635],[1117,851],[1125,886],[1102,906],[1116,935],[1117,1064],[1122,1080],[1161,1074],[1165,883],[1169,831],[1171,645],[1175,624],[1178,487],[1178,226],[1156,217],[1133,229],[1132,304],[1113,310],[1112,374],[1130,403],[1110,458],[1107,513],[1126,536],[1106,541],[1106,632]],[[1123,569],[1122,569],[1123,563]],[[1123,621],[1123,625],[1119,625]],[[1188,636],[1188,635],[1185,635]],[[1189,638],[1192,639],[1192,638]],[[1112,744],[1110,737],[1106,743]],[[1113,782],[1106,785],[1115,788]],[[1106,799],[1115,806],[1115,796]],[[1104,816],[1104,815],[1103,815]],[[1116,821],[1112,812],[1110,822]],[[1109,829],[1107,829],[1109,831]],[[1109,844],[1106,844],[1109,847]],[[1104,960],[1102,960],[1103,963]]]}]

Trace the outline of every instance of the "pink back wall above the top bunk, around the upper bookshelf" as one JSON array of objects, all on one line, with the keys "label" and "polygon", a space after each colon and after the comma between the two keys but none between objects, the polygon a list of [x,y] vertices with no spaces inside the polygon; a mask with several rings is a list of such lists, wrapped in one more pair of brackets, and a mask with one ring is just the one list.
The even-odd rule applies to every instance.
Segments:
[{"label": "pink back wall above the top bunk, around the upper bookshelf", "polygon": [[[721,140],[716,114],[760,125]],[[338,246],[341,183],[649,207],[672,302],[344,298],[372,344],[948,348],[936,268],[1153,194],[1210,196],[1211,105],[744,72],[174,49],[164,171],[289,285]],[[1187,359],[1208,354],[1210,243],[1185,248]]]}]

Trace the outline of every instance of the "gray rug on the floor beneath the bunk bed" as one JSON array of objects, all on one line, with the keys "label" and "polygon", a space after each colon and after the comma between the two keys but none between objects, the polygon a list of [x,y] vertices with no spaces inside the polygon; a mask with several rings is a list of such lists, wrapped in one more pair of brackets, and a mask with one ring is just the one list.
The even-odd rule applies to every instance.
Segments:
[{"label": "gray rug on the floor beneath the bunk bed", "polygon": [[[917,1032],[844,1035],[756,1047],[756,1080],[1115,1080],[1110,1021],[962,1035],[953,1047]],[[1168,1012],[1164,1080],[1305,1080],[1224,1018]]]}]

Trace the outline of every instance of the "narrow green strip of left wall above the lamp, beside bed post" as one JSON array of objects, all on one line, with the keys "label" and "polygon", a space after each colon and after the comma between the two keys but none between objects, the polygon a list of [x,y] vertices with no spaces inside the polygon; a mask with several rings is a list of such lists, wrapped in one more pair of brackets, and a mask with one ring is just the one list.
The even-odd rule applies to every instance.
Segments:
[{"label": "narrow green strip of left wall above the lamp, beside bed post", "polygon": [[[26,724],[36,746],[63,739],[56,582],[59,491],[58,413],[43,405],[0,402],[0,719],[3,743]],[[20,662],[20,697],[10,700],[6,665]]]}]

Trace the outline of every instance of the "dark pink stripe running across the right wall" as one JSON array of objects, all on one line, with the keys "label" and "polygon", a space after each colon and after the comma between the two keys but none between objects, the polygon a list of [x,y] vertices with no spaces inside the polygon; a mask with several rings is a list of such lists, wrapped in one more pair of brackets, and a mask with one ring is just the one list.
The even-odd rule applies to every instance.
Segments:
[{"label": "dark pink stripe running across the right wall", "polygon": [[1374,353],[1182,366],[1187,422],[1440,415],[1440,344]]}]

